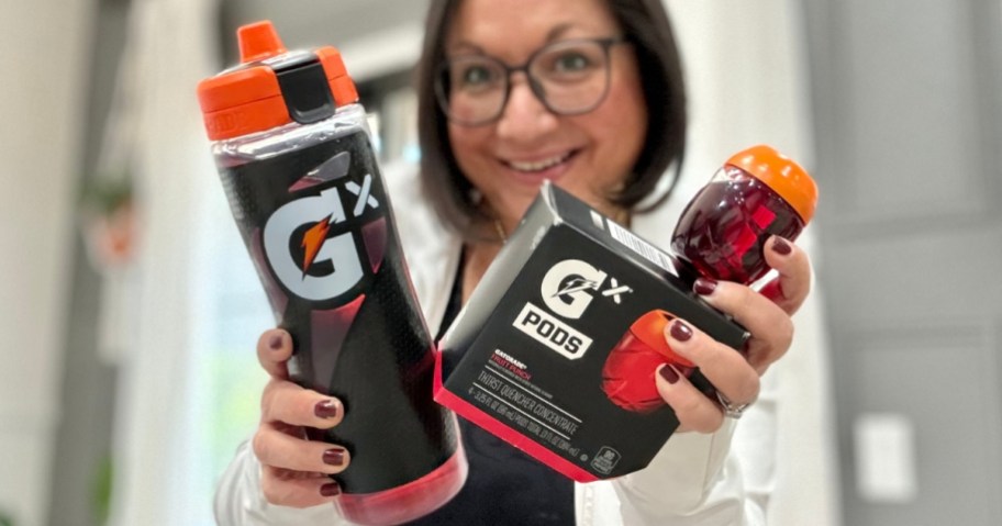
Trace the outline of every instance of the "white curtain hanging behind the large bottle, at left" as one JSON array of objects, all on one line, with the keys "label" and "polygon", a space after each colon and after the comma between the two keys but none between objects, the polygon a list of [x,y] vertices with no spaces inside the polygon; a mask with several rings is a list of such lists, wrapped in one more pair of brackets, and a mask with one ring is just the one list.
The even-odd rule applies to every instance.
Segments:
[{"label": "white curtain hanging behind the large bottle, at left", "polygon": [[[141,216],[131,327],[115,407],[111,524],[212,524],[200,450],[193,363],[200,335],[205,200],[222,200],[196,98],[218,68],[214,0],[133,0],[119,90],[131,130]],[[112,134],[114,135],[114,134]],[[253,351],[253,349],[252,349]]]}]

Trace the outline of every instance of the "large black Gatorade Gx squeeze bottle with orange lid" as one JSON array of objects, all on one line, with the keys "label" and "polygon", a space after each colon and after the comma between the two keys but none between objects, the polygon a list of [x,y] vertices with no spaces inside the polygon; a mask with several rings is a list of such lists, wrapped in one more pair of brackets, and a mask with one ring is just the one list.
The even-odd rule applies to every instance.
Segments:
[{"label": "large black Gatorade Gx squeeze bottle with orange lid", "polygon": [[365,110],[333,47],[287,52],[241,27],[241,61],[198,88],[233,215],[294,381],[344,402],[311,438],[339,444],[337,505],[359,524],[420,517],[466,478],[455,416],[432,400],[433,344],[414,299]]}]

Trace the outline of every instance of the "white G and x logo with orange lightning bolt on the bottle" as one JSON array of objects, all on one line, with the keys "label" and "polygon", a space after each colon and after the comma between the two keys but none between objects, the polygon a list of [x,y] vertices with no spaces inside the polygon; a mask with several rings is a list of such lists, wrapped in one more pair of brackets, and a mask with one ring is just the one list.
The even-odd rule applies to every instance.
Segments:
[{"label": "white G and x logo with orange lightning bolt on the bottle", "polygon": [[[368,209],[379,210],[379,201],[371,195],[372,175],[363,176],[359,184],[345,177],[349,166],[350,154],[343,152],[311,170],[289,191],[330,181],[335,181],[335,186],[283,204],[265,224],[265,255],[275,276],[290,292],[304,300],[337,298],[352,290],[365,276],[364,260],[352,231],[331,235],[333,226],[348,221],[348,214],[356,220]],[[303,227],[307,230],[303,231]],[[361,231],[375,271],[378,260],[382,259],[385,223],[370,222]],[[298,236],[301,237],[297,243],[294,239]],[[322,262],[323,268],[319,268]]]}]

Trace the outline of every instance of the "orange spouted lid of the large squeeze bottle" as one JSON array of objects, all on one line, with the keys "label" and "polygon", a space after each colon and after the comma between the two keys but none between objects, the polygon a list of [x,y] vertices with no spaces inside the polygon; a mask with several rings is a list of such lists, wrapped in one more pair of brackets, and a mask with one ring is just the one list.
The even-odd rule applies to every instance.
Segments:
[{"label": "orange spouted lid of the large squeeze bottle", "polygon": [[[209,138],[221,141],[264,132],[293,121],[272,65],[289,53],[269,21],[244,25],[237,30],[241,65],[202,80],[198,86],[199,104]],[[302,54],[309,56],[308,54]],[[355,82],[348,76],[341,53],[331,46],[312,52],[323,67],[335,105],[358,101]]]}]

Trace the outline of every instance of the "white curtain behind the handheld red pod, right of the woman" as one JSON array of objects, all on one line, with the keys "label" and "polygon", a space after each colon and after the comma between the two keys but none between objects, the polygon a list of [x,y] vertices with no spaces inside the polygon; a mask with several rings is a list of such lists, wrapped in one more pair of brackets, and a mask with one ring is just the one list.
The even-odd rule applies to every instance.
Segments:
[{"label": "white curtain behind the handheld red pod, right of the woman", "polygon": [[[733,153],[776,146],[813,167],[806,40],[793,0],[665,0],[680,42],[691,126],[679,193],[706,182]],[[681,203],[668,211],[677,217]],[[821,195],[820,206],[824,206]],[[828,340],[822,311],[824,267],[814,228],[798,245],[812,253],[815,288],[794,317],[797,345],[772,371],[786,402],[778,409],[781,451],[770,503],[775,526],[840,524]],[[738,426],[741,429],[741,426]]]}]

